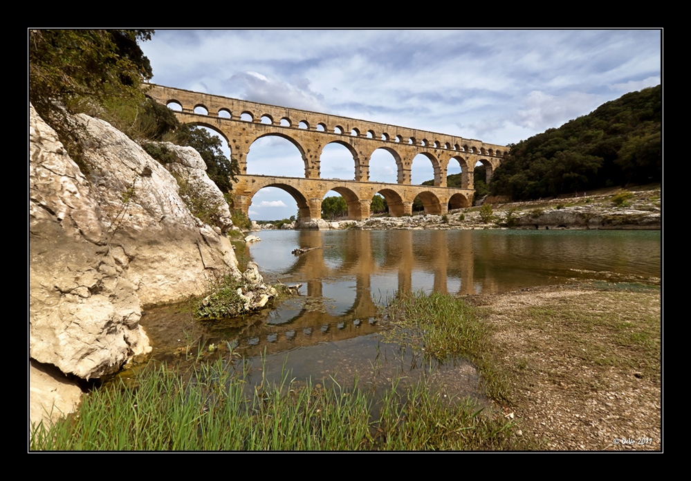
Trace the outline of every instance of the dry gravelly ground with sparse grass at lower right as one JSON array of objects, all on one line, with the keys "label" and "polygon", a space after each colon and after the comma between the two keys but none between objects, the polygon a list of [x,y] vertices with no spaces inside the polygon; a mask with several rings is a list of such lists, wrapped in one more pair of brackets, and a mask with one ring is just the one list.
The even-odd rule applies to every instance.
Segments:
[{"label": "dry gravelly ground with sparse grass at lower right", "polygon": [[661,291],[572,285],[469,296],[494,328],[505,401],[546,450],[661,451]]}]

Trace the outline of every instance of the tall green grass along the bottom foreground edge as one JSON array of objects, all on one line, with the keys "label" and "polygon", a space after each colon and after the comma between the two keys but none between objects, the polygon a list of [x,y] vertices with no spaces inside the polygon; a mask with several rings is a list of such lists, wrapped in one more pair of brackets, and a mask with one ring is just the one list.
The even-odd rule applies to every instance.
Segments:
[{"label": "tall green grass along the bottom foreground edge", "polygon": [[[530,447],[510,421],[425,381],[394,379],[379,400],[357,382],[248,388],[241,363],[202,364],[191,376],[150,365],[137,387],[95,390],[77,415],[32,428],[32,451],[498,450]],[[376,403],[378,405],[376,406]],[[375,409],[376,408],[376,409]],[[373,413],[379,412],[374,419]]]}]

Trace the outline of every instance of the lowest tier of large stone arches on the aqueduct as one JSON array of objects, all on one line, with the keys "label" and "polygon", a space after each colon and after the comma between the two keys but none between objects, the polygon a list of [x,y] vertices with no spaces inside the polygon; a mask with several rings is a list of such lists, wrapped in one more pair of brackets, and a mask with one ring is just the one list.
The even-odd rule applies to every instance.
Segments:
[{"label": "lowest tier of large stone arches on the aqueduct", "polygon": [[348,218],[369,218],[369,206],[375,194],[381,194],[394,217],[412,215],[413,201],[420,199],[425,214],[444,215],[449,209],[470,207],[471,189],[443,188],[432,185],[402,185],[399,183],[343,181],[340,179],[304,179],[302,177],[276,177],[264,175],[239,175],[233,186],[233,207],[248,213],[252,197],[265,187],[285,190],[297,201],[300,219],[320,219],[322,199],[329,190],[341,194],[348,205]]}]

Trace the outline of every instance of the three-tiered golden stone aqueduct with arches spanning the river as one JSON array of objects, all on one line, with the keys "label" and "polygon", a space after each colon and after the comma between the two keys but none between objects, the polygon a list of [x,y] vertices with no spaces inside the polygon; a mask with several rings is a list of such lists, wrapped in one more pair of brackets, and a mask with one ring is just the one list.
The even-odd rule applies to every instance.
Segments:
[{"label": "three-tiered golden stone aqueduct with arches spanning the river", "polygon": [[[149,84],[147,96],[170,106],[177,104],[181,122],[209,127],[228,141],[240,175],[233,183],[235,209],[248,213],[252,197],[261,188],[277,187],[293,196],[300,208],[300,220],[320,219],[322,199],[329,190],[341,194],[348,204],[348,217],[369,217],[374,194],[381,194],[394,217],[412,214],[412,205],[420,197],[426,214],[443,215],[449,210],[472,206],[473,173],[480,162],[486,167],[489,183],[508,148],[479,140],[437,134],[356,118],[320,114],[258,102],[248,102],[208,93],[199,93]],[[265,136],[289,140],[302,155],[304,177],[278,177],[247,174],[250,145]],[[355,180],[322,179],[320,155],[329,143],[347,147],[353,154]],[[398,166],[398,183],[369,181],[369,160],[376,149],[391,153]],[[434,167],[434,186],[411,185],[413,158],[422,154]],[[461,166],[461,188],[448,188],[446,173],[450,162]]]}]

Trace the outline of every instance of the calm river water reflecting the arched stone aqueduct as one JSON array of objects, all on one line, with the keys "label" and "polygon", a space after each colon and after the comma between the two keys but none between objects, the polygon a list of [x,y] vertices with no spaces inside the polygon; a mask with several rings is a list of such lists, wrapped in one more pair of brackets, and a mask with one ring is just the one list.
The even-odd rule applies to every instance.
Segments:
[{"label": "calm river water reflecting the arched stone aqueduct", "polygon": [[[380,338],[377,306],[395,291],[490,294],[571,282],[659,284],[661,233],[649,230],[266,230],[238,246],[267,282],[301,283],[302,296],[241,320],[201,323],[189,305],[142,317],[154,355],[178,362],[187,345],[237,345],[250,377],[330,376],[374,382],[414,376],[421,360]],[[295,248],[313,248],[295,256]],[[174,354],[177,350],[177,354]],[[262,356],[261,361],[258,356]],[[189,357],[189,356],[187,356]],[[261,365],[261,367],[259,367]],[[382,366],[384,368],[382,369]],[[475,395],[468,363],[439,367],[454,394]],[[255,381],[257,381],[255,379]]]}]

